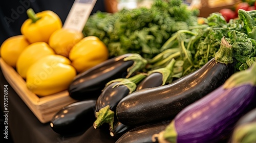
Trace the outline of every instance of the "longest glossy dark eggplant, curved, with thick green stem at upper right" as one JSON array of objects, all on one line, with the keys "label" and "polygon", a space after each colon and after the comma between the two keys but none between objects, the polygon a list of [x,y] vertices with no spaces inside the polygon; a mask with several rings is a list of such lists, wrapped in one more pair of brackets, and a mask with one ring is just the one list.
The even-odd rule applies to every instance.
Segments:
[{"label": "longest glossy dark eggplant, curved, with thick green stem at upper right", "polygon": [[139,126],[175,117],[186,106],[221,86],[234,73],[232,48],[223,38],[216,57],[171,84],[135,91],[117,105],[118,121]]}]

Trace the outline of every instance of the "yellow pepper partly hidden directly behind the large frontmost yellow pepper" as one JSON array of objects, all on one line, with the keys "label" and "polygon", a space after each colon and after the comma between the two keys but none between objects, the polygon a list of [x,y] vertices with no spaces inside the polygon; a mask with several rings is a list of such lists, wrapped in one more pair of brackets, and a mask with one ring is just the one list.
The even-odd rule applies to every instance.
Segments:
[{"label": "yellow pepper partly hidden directly behind the large frontmost yellow pepper", "polygon": [[36,42],[28,45],[26,49],[19,55],[16,69],[17,73],[26,79],[28,68],[47,55],[55,54],[53,49],[46,42]]}]

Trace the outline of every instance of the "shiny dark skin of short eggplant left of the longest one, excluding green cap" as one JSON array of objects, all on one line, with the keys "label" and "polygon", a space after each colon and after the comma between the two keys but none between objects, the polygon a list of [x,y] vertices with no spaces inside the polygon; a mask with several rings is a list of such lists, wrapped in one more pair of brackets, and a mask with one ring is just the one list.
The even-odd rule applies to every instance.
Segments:
[{"label": "shiny dark skin of short eggplant left of the longest one, excluding green cap", "polygon": [[97,99],[95,105],[96,112],[98,112],[106,105],[109,105],[110,109],[112,111],[115,111],[118,102],[129,94],[129,88],[124,85],[116,86],[113,88],[113,86],[117,83],[118,82],[113,82],[110,85],[106,86],[106,88],[104,88],[104,90]]}]

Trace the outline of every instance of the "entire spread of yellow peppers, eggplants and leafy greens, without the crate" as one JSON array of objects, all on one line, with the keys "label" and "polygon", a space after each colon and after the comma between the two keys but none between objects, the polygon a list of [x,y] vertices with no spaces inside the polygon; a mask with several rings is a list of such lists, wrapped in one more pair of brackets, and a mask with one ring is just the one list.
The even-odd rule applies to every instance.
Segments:
[{"label": "entire spread of yellow peppers, eggplants and leafy greens, without the crate", "polygon": [[96,12],[78,32],[29,9],[1,58],[39,97],[67,90],[77,100],[52,117],[58,134],[92,126],[116,143],[255,142],[255,116],[244,118],[256,108],[256,10],[236,12],[198,17],[156,0]]}]

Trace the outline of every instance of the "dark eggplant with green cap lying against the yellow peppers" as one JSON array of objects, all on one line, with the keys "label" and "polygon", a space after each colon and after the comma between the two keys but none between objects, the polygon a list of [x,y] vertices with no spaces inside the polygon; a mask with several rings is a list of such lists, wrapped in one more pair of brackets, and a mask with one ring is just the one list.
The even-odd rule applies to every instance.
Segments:
[{"label": "dark eggplant with green cap lying against the yellow peppers", "polygon": [[146,63],[139,54],[125,54],[106,60],[77,75],[69,86],[69,95],[75,100],[97,99],[106,83],[130,77]]}]

